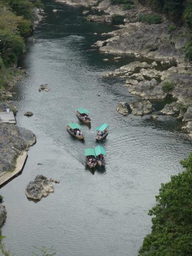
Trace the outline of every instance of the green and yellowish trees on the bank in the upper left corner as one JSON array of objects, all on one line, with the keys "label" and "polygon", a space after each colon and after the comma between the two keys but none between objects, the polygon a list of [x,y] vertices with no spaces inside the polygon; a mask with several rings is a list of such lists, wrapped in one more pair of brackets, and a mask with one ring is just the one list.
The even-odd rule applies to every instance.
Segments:
[{"label": "green and yellowish trees on the bank in the upper left corner", "polygon": [[24,39],[32,31],[35,7],[40,0],[0,0],[0,88],[12,75],[12,67],[24,52]]}]

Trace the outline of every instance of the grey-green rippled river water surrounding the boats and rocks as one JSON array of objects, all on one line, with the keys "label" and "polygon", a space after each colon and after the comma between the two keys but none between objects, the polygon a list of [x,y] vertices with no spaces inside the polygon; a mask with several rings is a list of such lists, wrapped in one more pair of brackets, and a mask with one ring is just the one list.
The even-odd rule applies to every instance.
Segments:
[{"label": "grey-green rippled river water surrounding the boats and rocks", "polygon": [[[120,101],[134,96],[122,81],[103,79],[100,73],[133,59],[117,63],[114,56],[89,51],[100,39],[93,33],[114,26],[86,22],[83,8],[44,3],[47,17],[33,35],[36,43],[29,40],[22,63],[28,74],[15,87],[17,123],[32,130],[37,143],[22,175],[0,192],[8,212],[2,228],[5,244],[16,256],[28,256],[33,246],[41,245],[54,246],[58,256],[136,256],[150,232],[147,212],[160,183],[181,170],[179,161],[192,150],[191,141],[175,118],[152,120],[116,112]],[[110,61],[102,61],[106,57]],[[43,83],[51,87],[48,93],[38,92]],[[79,107],[87,108],[92,118],[91,129],[82,125],[84,143],[66,131],[68,122],[78,122]],[[25,117],[26,110],[33,117]],[[107,165],[93,174],[82,164],[84,148],[96,146],[94,128],[102,122],[110,124],[107,140],[100,143]],[[34,203],[24,190],[37,174],[60,184]]]}]

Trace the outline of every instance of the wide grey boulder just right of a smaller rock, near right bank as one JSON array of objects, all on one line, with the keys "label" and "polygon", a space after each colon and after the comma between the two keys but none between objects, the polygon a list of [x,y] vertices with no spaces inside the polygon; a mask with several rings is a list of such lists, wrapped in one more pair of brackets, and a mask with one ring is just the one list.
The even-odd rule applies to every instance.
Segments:
[{"label": "wide grey boulder just right of a smaller rock, near right bank", "polygon": [[132,114],[137,116],[143,116],[150,114],[153,111],[153,106],[149,100],[133,101],[130,103]]}]

